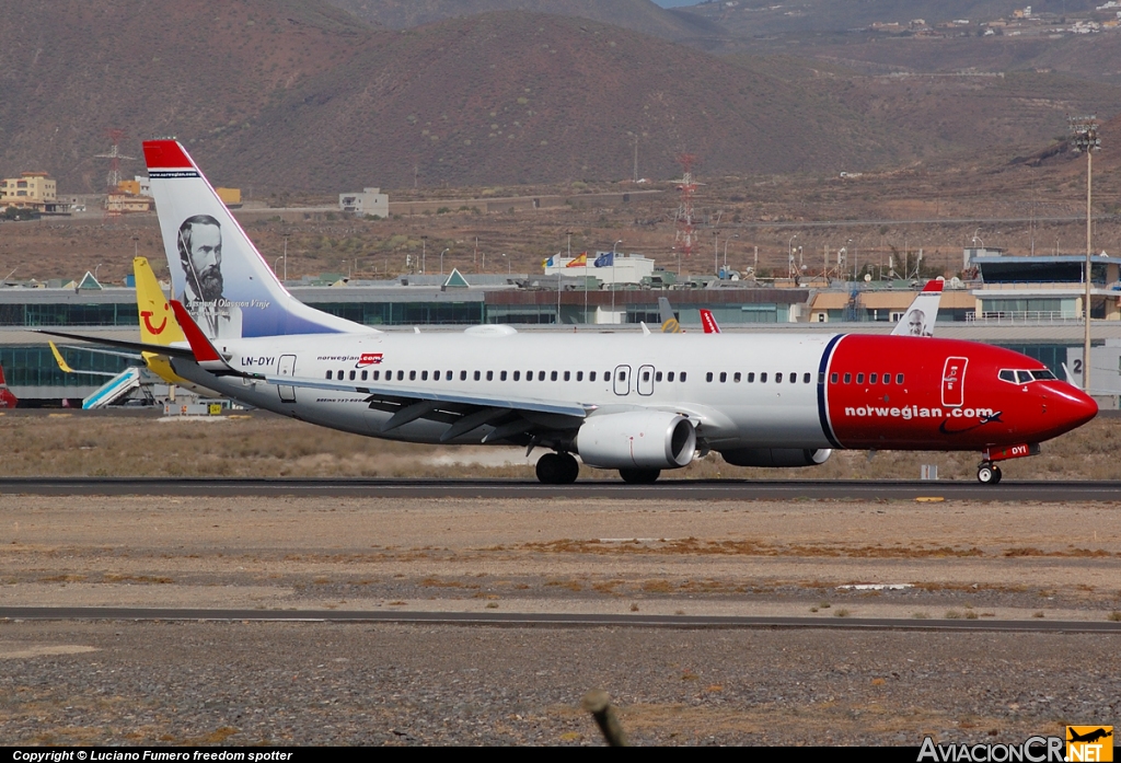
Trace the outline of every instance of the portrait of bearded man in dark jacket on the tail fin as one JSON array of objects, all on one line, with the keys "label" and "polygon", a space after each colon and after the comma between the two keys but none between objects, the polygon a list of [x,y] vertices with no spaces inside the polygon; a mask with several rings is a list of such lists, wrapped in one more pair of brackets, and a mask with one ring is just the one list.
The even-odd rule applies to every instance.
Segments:
[{"label": "portrait of bearded man in dark jacket on the tail fin", "polygon": [[241,336],[241,308],[222,294],[222,225],[210,215],[179,225],[179,263],[186,285],[178,299],[212,339]]}]

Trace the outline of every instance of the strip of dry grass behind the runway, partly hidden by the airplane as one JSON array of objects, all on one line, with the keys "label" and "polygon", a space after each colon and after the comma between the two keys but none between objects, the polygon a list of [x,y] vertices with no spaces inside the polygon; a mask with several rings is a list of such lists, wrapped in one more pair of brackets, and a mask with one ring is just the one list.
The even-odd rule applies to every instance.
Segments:
[{"label": "strip of dry grass behind the runway, partly hidden by the airplane", "polygon": [[[534,476],[531,466],[470,463],[478,453],[493,463],[493,448],[456,449],[378,440],[271,416],[163,422],[81,412],[56,417],[12,412],[0,415],[0,441],[4,444],[0,476]],[[1045,445],[1040,456],[1001,466],[1011,480],[1121,480],[1119,449],[1121,428],[1112,420],[1097,419]],[[509,453],[513,455],[515,449]],[[455,456],[455,463],[446,463],[448,455]],[[665,476],[892,480],[917,478],[923,464],[937,464],[944,480],[972,481],[978,459],[976,453],[844,450],[816,468],[757,469],[730,466],[720,455],[710,454]],[[582,478],[617,476],[615,472],[587,467],[581,472]],[[1022,552],[1035,555],[1034,549]],[[1077,550],[1069,555],[1084,556]]]}]

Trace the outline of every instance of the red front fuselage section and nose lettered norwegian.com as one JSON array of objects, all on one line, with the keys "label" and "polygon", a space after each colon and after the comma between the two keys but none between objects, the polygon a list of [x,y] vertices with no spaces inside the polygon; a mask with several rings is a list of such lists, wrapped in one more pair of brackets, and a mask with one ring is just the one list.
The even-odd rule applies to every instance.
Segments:
[{"label": "red front fuselage section and nose lettered norwegian.com", "polygon": [[972,342],[849,335],[836,344],[825,379],[830,425],[846,448],[961,450],[1040,443],[1097,412],[1092,399],[1066,382],[1013,384],[998,376],[1002,369],[1045,367]]}]

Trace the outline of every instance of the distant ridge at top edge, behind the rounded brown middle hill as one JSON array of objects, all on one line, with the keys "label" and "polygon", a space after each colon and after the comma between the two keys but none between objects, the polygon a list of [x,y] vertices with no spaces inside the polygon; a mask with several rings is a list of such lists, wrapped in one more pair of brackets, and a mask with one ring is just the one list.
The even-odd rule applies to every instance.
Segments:
[{"label": "distant ridge at top edge, behind the rounded brown middle hill", "polygon": [[693,13],[659,8],[650,0],[331,0],[360,19],[392,29],[500,10],[575,16],[651,37],[688,40],[719,35],[720,25]]}]

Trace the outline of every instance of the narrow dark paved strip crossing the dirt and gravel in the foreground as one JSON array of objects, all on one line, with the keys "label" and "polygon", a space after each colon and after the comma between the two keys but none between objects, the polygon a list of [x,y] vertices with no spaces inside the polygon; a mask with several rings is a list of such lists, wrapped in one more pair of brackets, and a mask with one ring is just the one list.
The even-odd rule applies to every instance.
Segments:
[{"label": "narrow dark paved strip crossing the dirt and gravel in the foreground", "polygon": [[525,612],[371,612],[339,610],[168,610],[129,607],[0,607],[0,621],[188,621],[261,623],[396,623],[488,627],[647,627],[827,631],[1121,634],[1121,622],[1044,620],[900,620],[870,617],[729,617],[705,615],[564,614]]}]

